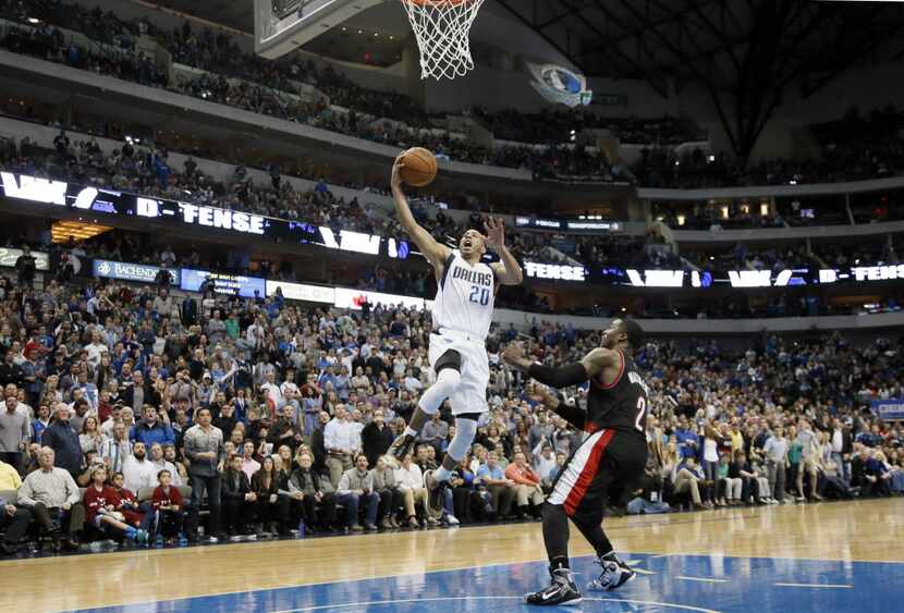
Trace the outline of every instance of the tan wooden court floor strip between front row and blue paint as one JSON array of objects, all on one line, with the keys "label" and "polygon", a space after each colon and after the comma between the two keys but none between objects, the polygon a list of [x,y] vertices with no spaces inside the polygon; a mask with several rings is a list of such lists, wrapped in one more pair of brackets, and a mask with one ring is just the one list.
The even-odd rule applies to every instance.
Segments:
[{"label": "tan wooden court floor strip between front row and blue paint", "polygon": [[[904,499],[607,519],[620,551],[904,562]],[[591,553],[572,530],[572,553]],[[540,524],[0,562],[0,611],[129,605],[545,559]],[[893,608],[892,608],[893,609]]]}]

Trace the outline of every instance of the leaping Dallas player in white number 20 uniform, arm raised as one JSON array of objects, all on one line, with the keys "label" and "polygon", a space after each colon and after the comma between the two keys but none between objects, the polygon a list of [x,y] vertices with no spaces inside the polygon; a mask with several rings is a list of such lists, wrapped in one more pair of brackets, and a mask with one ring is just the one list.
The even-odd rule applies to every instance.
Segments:
[{"label": "leaping Dallas player in white number 20 uniform, arm raised", "polygon": [[[433,267],[437,278],[437,297],[433,303],[433,331],[430,334],[430,366],[437,375],[417,403],[411,422],[389,449],[399,461],[414,446],[424,425],[439,410],[445,399],[455,416],[455,436],[449,443],[442,466],[428,470],[425,483],[430,490],[430,505],[441,507],[439,489],[449,481],[452,470],[465,456],[477,433],[477,421],[488,410],[487,382],[489,364],[484,342],[490,330],[492,307],[499,285],[522,282],[521,267],[505,248],[505,226],[490,218],[486,236],[468,230],[453,252],[438,243],[412,216],[402,192],[401,156],[392,168],[392,196],[399,222],[417,244],[420,253]],[[500,261],[486,265],[480,261],[487,248],[499,255]],[[438,508],[437,508],[438,510]]]}]

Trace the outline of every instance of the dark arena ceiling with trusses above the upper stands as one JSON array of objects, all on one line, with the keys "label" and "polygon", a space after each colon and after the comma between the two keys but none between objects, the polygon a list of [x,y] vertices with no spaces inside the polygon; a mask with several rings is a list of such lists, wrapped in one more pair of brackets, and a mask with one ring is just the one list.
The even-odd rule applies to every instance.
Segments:
[{"label": "dark arena ceiling with trusses above the upper stands", "polygon": [[[254,27],[251,0],[157,3]],[[389,28],[388,9],[354,19]],[[904,59],[904,2],[487,0],[485,10],[511,15],[589,76],[644,79],[662,97],[703,86],[741,159],[787,87],[807,98],[854,66]]]}]

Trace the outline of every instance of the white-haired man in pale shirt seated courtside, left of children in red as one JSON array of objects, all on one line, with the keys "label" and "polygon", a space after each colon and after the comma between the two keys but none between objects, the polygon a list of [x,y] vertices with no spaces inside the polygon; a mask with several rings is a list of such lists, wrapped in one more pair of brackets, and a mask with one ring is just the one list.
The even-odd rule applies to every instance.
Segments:
[{"label": "white-haired man in pale shirt seated courtside, left of children in red", "polygon": [[[53,539],[54,549],[60,549],[63,539],[71,549],[78,549],[85,526],[78,487],[69,470],[53,466],[52,449],[41,448],[38,458],[40,469],[25,477],[19,488],[17,504],[32,512],[40,529]],[[59,524],[54,524],[56,517],[60,518]]]}]

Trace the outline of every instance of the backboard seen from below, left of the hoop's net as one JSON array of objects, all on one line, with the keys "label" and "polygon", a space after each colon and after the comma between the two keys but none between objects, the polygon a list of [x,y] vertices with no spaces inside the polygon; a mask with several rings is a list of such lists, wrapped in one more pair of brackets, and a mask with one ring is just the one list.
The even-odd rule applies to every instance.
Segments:
[{"label": "backboard seen from below, left of the hoop's net", "polygon": [[273,60],[383,0],[254,0],[255,51]]}]

